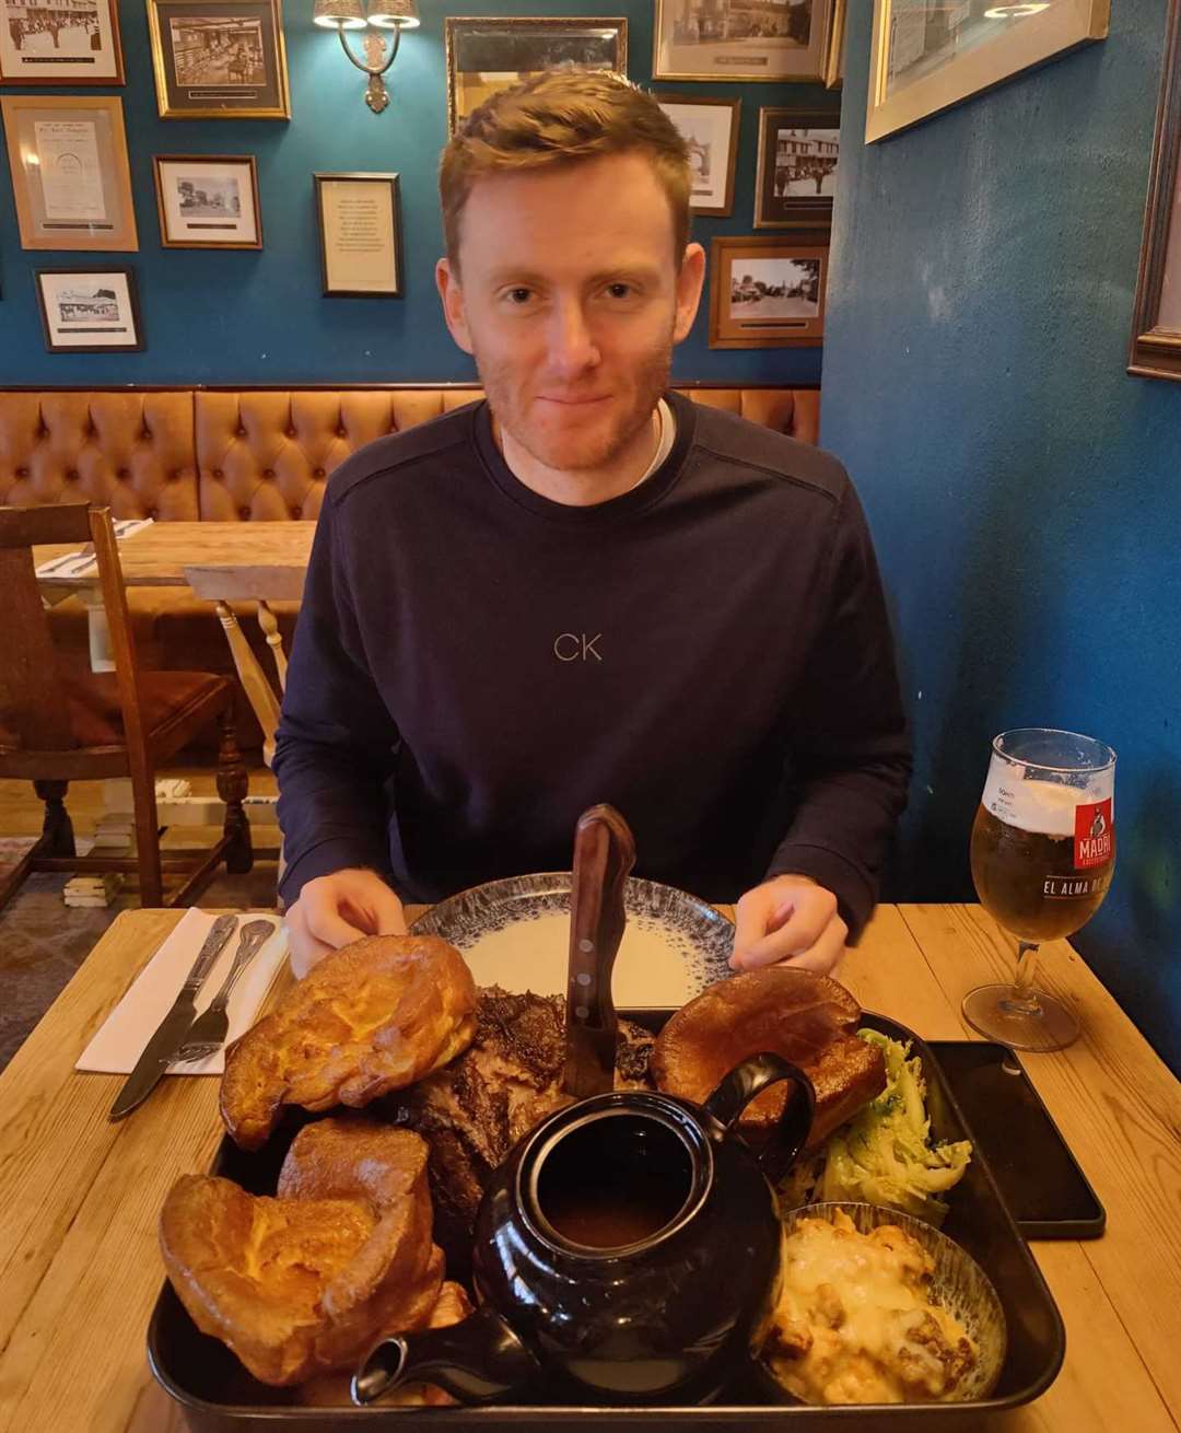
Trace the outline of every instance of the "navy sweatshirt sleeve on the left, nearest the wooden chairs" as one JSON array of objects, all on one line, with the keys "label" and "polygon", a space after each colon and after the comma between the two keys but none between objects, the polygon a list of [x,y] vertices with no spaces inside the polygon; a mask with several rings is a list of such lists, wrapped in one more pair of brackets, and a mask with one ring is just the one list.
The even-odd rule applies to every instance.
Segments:
[{"label": "navy sweatshirt sleeve on the left, nearest the wooden chairs", "polygon": [[320,514],[279,727],[274,772],[287,906],[317,876],[368,867],[388,878],[387,784],[398,732],[364,653],[348,595],[331,489]]}]

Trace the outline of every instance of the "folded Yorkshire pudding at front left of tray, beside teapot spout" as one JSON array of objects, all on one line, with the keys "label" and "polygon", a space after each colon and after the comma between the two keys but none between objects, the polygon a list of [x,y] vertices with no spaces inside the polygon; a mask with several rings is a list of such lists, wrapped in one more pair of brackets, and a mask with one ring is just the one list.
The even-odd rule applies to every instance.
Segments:
[{"label": "folded Yorkshire pudding at front left of tray, beside teapot spout", "polygon": [[182,1175],[161,1211],[168,1277],[192,1321],[262,1383],[302,1383],[419,1328],[443,1281],[427,1146],[407,1129],[325,1119],[295,1138],[279,1198]]}]

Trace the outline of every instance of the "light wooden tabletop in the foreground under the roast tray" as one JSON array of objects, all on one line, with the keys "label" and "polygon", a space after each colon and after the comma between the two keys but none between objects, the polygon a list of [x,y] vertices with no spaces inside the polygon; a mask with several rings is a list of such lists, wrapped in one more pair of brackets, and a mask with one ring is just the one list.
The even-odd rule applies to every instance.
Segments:
[{"label": "light wooden tabletop in the foreground under the roast tray", "polygon": [[[156,1217],[172,1181],[209,1166],[218,1082],[166,1079],[129,1119],[119,1076],[73,1063],[179,920],[115,921],[0,1076],[0,1430],[168,1433],[183,1422],[146,1363],[163,1277]],[[976,906],[884,906],[841,980],[863,1006],[929,1039],[972,1036],[960,996],[1006,979],[1012,943]],[[1066,1323],[1066,1363],[1003,1433],[1175,1433],[1181,1412],[1181,1085],[1065,941],[1048,989],[1076,1002],[1084,1037],[1026,1066],[1106,1205],[1108,1231],[1041,1242]]]}]

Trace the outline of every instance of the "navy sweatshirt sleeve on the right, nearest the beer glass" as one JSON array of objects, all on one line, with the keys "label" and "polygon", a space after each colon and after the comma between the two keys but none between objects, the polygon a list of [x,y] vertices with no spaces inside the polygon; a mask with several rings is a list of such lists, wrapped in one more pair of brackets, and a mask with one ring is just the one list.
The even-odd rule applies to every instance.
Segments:
[{"label": "navy sweatshirt sleeve on the right, nearest the beer glass", "polygon": [[837,897],[856,944],[910,781],[894,643],[853,486],[836,512],[824,619],[791,714],[795,814],[768,877],[810,876]]}]

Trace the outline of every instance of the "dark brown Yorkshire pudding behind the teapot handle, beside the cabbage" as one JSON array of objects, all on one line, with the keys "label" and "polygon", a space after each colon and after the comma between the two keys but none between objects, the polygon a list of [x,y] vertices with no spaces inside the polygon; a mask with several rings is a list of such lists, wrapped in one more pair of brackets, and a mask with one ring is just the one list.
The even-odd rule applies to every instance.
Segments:
[{"label": "dark brown Yorkshire pudding behind the teapot handle, beside the cabbage", "polygon": [[[781,1055],[816,1088],[808,1146],[828,1135],[886,1088],[881,1050],[859,1040],[861,1007],[827,976],[767,966],[708,986],[682,1006],[656,1036],[656,1088],[702,1103],[750,1055]],[[774,1085],[751,1101],[740,1128],[767,1135],[787,1101]]]}]

